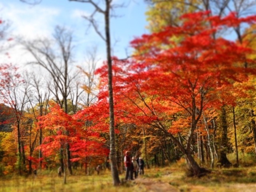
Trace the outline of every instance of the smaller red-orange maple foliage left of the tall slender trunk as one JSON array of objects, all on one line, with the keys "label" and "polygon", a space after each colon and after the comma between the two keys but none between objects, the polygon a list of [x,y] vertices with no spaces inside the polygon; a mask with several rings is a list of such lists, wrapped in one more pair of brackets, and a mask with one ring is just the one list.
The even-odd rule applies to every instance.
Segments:
[{"label": "smaller red-orange maple foliage left of the tall slender trunk", "polygon": [[86,130],[84,121],[76,119],[80,115],[66,114],[60,106],[50,108],[50,112],[38,118],[40,128],[48,129],[51,134],[44,138],[40,149],[44,156],[58,153],[60,148],[70,146],[73,161],[86,156],[106,156],[108,150],[103,147],[104,140],[98,132]]}]

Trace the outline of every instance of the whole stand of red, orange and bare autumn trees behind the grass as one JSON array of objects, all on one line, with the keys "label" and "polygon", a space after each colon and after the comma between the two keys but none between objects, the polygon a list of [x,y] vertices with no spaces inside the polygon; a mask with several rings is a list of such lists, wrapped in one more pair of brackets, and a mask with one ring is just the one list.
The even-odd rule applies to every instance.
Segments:
[{"label": "whole stand of red, orange and bare autumn trees behind the grass", "polygon": [[[1,61],[0,177],[61,166],[66,183],[77,170],[91,175],[101,165],[118,185],[126,150],[148,169],[183,160],[195,178],[255,166],[254,0],[145,0],[148,33],[132,40],[127,58],[111,55],[108,37],[111,11],[125,7],[73,1],[95,8],[85,19],[106,42],[100,64],[93,47],[74,66],[65,27],[29,41],[0,20],[1,54],[22,45],[36,69]],[[103,33],[95,13],[105,18]]]}]

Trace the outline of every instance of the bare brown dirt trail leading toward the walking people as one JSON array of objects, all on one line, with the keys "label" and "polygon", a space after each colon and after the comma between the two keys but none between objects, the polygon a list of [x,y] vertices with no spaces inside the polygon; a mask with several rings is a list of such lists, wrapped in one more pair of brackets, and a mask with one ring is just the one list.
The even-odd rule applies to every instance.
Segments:
[{"label": "bare brown dirt trail leading toward the walking people", "polygon": [[179,192],[177,188],[168,183],[161,181],[154,181],[149,178],[137,178],[134,181],[136,184],[144,185],[147,192]]}]

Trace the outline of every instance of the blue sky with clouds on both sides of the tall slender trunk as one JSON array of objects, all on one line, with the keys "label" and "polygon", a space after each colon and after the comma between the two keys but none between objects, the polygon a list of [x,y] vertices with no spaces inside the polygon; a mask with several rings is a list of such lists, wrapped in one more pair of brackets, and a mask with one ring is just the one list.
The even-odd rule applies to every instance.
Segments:
[{"label": "blue sky with clouds on both sides of the tall slender trunk", "polygon": [[[113,0],[113,2],[115,4],[127,3],[126,7],[116,10],[118,17],[111,18],[110,21],[114,55],[124,58],[129,42],[134,37],[147,33],[144,15],[147,5],[143,0]],[[82,18],[82,15],[92,13],[93,7],[90,4],[68,0],[42,0],[40,4],[31,6],[20,0],[3,0],[0,2],[0,10],[0,17],[11,23],[10,30],[14,38],[16,36],[22,36],[25,39],[50,38],[54,26],[65,26],[74,32],[74,45],[78,58],[82,59],[90,47],[98,46],[98,56],[104,60],[106,50],[104,41],[94,32],[93,28],[86,30],[88,22]],[[101,14],[96,17],[104,33],[104,18]],[[11,62],[25,63],[30,59],[19,47],[9,52]]]}]

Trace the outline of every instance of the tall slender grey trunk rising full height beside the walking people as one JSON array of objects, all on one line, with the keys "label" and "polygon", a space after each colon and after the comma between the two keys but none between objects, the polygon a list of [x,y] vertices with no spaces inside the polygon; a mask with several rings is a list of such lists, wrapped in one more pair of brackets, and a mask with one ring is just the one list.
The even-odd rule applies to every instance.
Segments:
[{"label": "tall slender grey trunk rising full height beside the walking people", "polygon": [[112,58],[111,58],[111,43],[110,43],[110,3],[111,0],[105,0],[105,33],[106,33],[106,52],[108,60],[108,94],[109,94],[109,116],[110,116],[110,166],[113,178],[113,185],[120,184],[118,176],[118,167],[116,161],[116,144],[115,144],[115,127],[114,127],[114,99],[112,88]]}]

